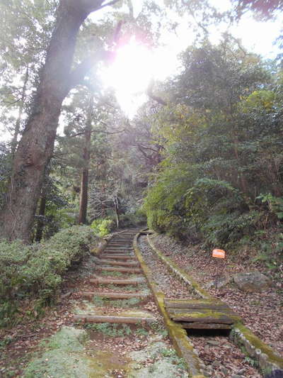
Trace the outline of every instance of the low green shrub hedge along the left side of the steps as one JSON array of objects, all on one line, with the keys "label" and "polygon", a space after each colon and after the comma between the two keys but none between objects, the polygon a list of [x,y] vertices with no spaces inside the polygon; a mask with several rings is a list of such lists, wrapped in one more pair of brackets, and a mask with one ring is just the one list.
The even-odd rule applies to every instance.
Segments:
[{"label": "low green shrub hedge along the left side of the steps", "polygon": [[[37,299],[35,311],[54,298],[64,273],[96,242],[91,228],[73,226],[45,243],[0,243],[0,326],[13,321],[19,301]],[[38,311],[36,311],[38,313]]]}]

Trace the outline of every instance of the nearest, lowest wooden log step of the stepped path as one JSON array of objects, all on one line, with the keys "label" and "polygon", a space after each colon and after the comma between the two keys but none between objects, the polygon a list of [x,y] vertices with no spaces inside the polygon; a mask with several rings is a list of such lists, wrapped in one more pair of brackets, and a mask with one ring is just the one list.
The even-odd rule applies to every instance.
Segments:
[{"label": "nearest, lowest wooden log step of the stepped path", "polygon": [[106,316],[106,315],[74,315],[74,321],[83,323],[122,323],[122,324],[143,324],[153,323],[156,318],[141,318],[136,316]]}]

